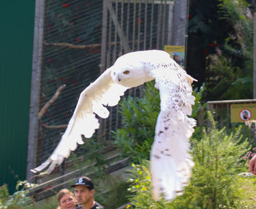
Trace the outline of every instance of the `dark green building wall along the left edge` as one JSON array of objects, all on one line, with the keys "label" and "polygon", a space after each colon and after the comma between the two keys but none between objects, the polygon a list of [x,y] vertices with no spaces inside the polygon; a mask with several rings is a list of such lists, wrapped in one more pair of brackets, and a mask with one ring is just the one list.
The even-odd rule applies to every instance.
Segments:
[{"label": "dark green building wall along the left edge", "polygon": [[0,1],[0,186],[26,178],[34,1]]}]

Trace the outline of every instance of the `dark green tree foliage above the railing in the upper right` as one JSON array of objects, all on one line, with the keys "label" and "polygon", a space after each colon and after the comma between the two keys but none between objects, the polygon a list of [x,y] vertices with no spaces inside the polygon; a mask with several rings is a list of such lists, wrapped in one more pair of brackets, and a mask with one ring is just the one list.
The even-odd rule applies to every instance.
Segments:
[{"label": "dark green tree foliage above the railing in the upper right", "polygon": [[[220,0],[222,18],[233,26],[223,50],[208,56],[206,88],[208,99],[252,98],[253,20],[249,4],[239,0]],[[241,88],[243,86],[243,88]]]}]

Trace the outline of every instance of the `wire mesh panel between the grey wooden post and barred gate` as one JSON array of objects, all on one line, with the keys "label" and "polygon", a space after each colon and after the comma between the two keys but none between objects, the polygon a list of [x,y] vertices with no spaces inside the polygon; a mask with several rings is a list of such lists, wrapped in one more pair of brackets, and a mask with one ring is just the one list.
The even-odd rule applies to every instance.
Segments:
[{"label": "wire mesh panel between the grey wooden post and barred gate", "polygon": [[[102,1],[45,1],[41,107],[66,85],[39,124],[37,163],[56,148],[81,91],[99,75]],[[78,47],[82,46],[82,47]]]}]

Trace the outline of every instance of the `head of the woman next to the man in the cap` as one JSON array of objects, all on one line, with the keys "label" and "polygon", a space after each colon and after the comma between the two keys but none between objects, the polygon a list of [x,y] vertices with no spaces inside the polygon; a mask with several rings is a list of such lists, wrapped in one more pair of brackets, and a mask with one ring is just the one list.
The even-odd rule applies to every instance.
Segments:
[{"label": "head of the woman next to the man in the cap", "polygon": [[61,189],[57,194],[57,200],[59,207],[58,209],[74,209],[75,208],[75,197],[72,191],[69,189]]}]

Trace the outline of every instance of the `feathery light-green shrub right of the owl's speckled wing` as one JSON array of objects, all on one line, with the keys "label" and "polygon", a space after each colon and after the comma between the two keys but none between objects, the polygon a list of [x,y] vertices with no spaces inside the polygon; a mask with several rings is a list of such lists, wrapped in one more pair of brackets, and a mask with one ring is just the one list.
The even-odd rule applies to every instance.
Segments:
[{"label": "feathery light-green shrub right of the owl's speckled wing", "polygon": [[238,173],[246,168],[241,156],[249,143],[241,141],[241,128],[227,135],[225,128],[218,130],[210,113],[208,115],[210,130],[199,142],[193,141],[195,167],[190,184],[174,203],[187,208],[239,208],[242,181]]}]

